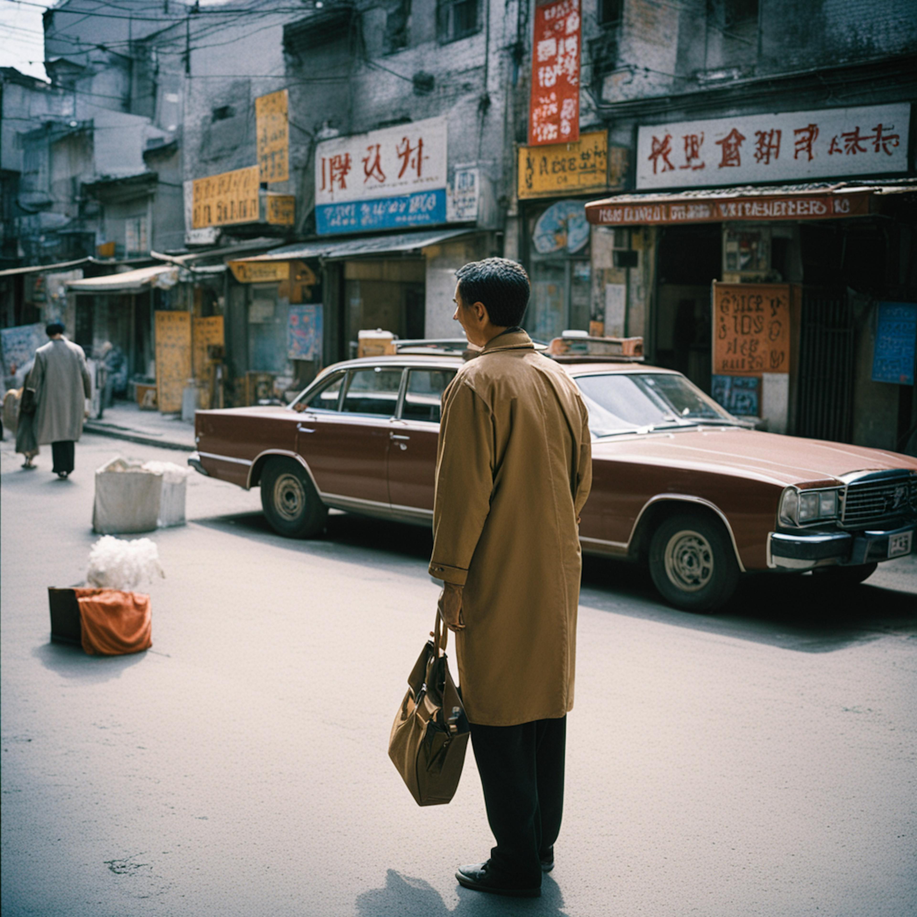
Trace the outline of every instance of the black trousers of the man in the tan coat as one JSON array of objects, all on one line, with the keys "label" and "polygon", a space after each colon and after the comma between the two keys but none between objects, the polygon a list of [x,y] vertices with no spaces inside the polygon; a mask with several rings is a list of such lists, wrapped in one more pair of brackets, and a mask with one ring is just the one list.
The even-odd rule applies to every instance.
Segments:
[{"label": "black trousers of the man in the tan coat", "polygon": [[541,885],[540,857],[560,832],[567,717],[518,726],[471,724],[487,820],[497,845],[493,873],[519,888]]}]

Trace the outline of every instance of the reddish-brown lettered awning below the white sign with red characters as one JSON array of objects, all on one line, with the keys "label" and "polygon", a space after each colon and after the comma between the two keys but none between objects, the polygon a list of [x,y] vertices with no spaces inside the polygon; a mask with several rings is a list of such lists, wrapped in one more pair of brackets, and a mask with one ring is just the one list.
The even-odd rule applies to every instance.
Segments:
[{"label": "reddish-brown lettered awning below the white sign with red characters", "polygon": [[834,220],[868,216],[878,196],[914,191],[911,182],[858,182],[616,194],[586,204],[586,218],[598,226]]}]

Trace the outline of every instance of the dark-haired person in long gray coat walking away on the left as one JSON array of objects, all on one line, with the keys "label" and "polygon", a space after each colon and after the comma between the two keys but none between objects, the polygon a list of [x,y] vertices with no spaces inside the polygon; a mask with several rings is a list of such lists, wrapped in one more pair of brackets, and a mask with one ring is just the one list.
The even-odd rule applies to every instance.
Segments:
[{"label": "dark-haired person in long gray coat walking away on the left", "polygon": [[83,434],[85,398],[93,383],[83,348],[63,336],[60,322],[45,328],[50,341],[35,353],[26,386],[35,390],[35,433],[39,446],[50,444],[53,473],[66,478],[73,470],[74,444]]}]

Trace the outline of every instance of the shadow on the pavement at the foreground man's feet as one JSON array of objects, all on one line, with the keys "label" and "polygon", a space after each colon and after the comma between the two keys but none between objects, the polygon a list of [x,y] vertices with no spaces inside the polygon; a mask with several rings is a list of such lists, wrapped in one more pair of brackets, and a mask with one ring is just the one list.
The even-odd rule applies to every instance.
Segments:
[{"label": "shadow on the pavement at the foreground man's feet", "polygon": [[389,869],[385,886],[359,895],[359,917],[565,917],[558,883],[546,876],[541,898],[501,898],[458,887],[458,905],[450,911],[439,892],[422,878],[403,876]]}]

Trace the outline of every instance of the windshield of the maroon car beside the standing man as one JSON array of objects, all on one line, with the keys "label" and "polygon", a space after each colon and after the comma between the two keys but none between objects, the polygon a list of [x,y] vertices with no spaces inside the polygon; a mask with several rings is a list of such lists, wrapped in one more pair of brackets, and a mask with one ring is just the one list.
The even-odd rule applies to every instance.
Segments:
[{"label": "windshield of the maroon car beside the standing man", "polygon": [[670,372],[609,372],[576,380],[589,408],[593,436],[660,427],[737,425],[732,414],[693,382]]}]

